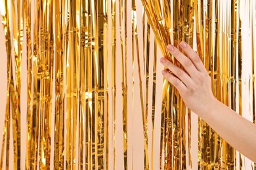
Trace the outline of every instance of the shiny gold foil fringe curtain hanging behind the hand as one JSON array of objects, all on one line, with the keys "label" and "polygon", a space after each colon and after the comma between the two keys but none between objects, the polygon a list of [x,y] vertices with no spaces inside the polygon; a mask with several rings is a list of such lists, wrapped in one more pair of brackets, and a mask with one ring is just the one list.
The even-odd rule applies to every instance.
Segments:
[{"label": "shiny gold foil fringe curtain hanging behind the hand", "polygon": [[[186,109],[160,56],[186,41],[255,123],[253,0],[0,0],[0,169],[256,169]],[[198,103],[200,105],[200,103]]]}]

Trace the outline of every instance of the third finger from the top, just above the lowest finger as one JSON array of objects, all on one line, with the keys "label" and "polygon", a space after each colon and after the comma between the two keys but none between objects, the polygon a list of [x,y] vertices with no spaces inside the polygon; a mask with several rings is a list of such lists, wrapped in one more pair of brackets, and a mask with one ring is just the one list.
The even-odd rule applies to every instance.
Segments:
[{"label": "third finger from the top, just above the lowest finger", "polygon": [[166,58],[161,58],[160,61],[165,67],[167,67],[167,69],[169,69],[175,76],[177,76],[177,78],[179,78],[186,86],[190,86],[193,83],[191,77],[185,71],[183,71],[180,67],[178,67],[177,65],[174,65],[173,63],[171,63],[171,61],[169,61]]}]

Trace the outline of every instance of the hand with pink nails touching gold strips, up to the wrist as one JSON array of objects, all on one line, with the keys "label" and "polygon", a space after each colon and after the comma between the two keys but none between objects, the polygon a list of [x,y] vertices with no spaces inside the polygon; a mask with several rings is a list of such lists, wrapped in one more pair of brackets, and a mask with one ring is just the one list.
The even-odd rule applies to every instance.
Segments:
[{"label": "hand with pink nails touching gold strips, up to the wrist", "polygon": [[211,78],[198,54],[186,42],[181,42],[180,46],[188,57],[170,44],[167,46],[167,50],[183,65],[186,71],[168,59],[161,58],[161,63],[171,71],[169,73],[165,69],[162,74],[177,88],[190,110],[197,114],[203,114],[207,112],[209,107],[213,106],[214,101],[217,101],[211,91]]}]

